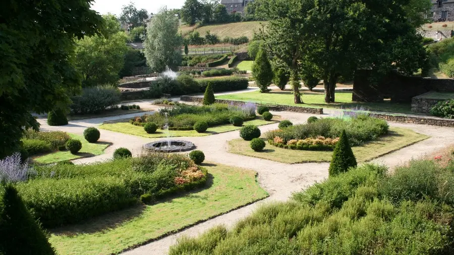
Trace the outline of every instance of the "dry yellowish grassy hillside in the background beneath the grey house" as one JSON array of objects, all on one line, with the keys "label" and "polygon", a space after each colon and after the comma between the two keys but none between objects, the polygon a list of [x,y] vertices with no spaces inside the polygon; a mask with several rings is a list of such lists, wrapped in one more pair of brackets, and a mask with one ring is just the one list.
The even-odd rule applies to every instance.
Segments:
[{"label": "dry yellowish grassy hillside in the background beneath the grey house", "polygon": [[248,22],[237,22],[228,24],[218,24],[209,26],[180,26],[180,31],[183,35],[188,34],[191,31],[198,31],[201,36],[204,36],[206,31],[210,31],[212,34],[217,34],[219,38],[224,37],[240,37],[247,36],[252,39],[254,32],[258,32],[261,28],[261,24],[266,24],[266,21],[248,21]]}]

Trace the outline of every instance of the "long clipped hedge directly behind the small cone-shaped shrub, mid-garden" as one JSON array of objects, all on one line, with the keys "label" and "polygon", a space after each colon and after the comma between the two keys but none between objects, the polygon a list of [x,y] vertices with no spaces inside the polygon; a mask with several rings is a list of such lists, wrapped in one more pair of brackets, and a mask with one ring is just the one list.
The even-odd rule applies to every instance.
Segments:
[{"label": "long clipped hedge directly behind the small cone-shaped shrub, mid-garden", "polygon": [[205,91],[208,83],[211,84],[214,92],[243,90],[249,86],[248,79],[243,77],[212,78],[198,80],[198,82],[200,84],[200,91]]}]

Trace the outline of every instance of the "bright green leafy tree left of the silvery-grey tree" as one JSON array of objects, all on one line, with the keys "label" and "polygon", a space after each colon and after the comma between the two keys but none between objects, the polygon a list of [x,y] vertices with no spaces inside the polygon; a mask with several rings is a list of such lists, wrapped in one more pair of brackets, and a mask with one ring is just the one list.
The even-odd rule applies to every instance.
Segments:
[{"label": "bright green leafy tree left of the silvery-grey tree", "polygon": [[115,16],[104,15],[103,20],[99,35],[85,37],[76,44],[74,62],[84,87],[116,82],[124,65],[127,36]]}]

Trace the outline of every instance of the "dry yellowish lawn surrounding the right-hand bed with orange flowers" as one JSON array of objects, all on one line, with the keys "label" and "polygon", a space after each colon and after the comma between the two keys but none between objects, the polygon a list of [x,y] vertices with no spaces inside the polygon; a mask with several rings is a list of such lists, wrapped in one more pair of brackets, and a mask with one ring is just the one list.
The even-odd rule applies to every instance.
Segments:
[{"label": "dry yellowish lawn surrounding the right-hand bed with orange flowers", "polygon": [[[429,137],[409,129],[390,127],[388,135],[382,136],[376,141],[355,146],[352,150],[358,162],[365,162],[427,138]],[[266,147],[262,152],[255,152],[249,147],[249,142],[243,139],[229,141],[229,152],[288,164],[330,162],[332,155],[330,151],[300,151],[278,148],[269,145],[268,142],[266,142]]]}]

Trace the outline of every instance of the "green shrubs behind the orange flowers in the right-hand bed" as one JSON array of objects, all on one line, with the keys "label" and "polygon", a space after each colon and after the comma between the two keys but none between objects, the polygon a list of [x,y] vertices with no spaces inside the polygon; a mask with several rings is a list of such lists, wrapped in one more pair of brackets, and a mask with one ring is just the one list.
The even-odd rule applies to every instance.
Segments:
[{"label": "green shrubs behind the orange flowers in the right-hand bed", "polygon": [[279,137],[287,144],[290,140],[306,138],[338,138],[343,131],[347,132],[350,145],[361,145],[367,141],[376,140],[388,132],[388,124],[383,119],[367,115],[358,115],[352,118],[322,118],[307,124],[298,124],[283,130],[269,131],[265,134],[267,140]]}]

